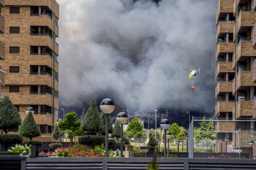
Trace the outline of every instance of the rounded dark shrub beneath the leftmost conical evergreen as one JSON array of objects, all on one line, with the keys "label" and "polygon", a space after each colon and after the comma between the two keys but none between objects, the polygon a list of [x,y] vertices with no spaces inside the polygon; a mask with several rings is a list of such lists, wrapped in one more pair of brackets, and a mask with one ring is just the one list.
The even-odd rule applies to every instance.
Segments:
[{"label": "rounded dark shrub beneath the leftmost conical evergreen", "polygon": [[9,146],[14,144],[21,144],[22,137],[17,134],[2,134],[0,135],[0,144],[4,145],[6,150]]}]

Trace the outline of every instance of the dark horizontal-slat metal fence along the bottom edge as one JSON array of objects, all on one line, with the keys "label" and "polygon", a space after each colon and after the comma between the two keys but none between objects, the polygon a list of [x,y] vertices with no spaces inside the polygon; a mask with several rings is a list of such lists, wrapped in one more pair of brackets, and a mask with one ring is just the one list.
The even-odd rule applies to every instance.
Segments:
[{"label": "dark horizontal-slat metal fence along the bottom edge", "polygon": [[[19,156],[0,157],[1,170],[5,169],[148,169],[152,158],[28,158]],[[12,168],[12,163],[19,167]],[[256,169],[254,160],[223,160],[203,158],[158,158],[158,169],[196,169],[196,170],[246,170]],[[4,166],[3,166],[4,165]]]}]

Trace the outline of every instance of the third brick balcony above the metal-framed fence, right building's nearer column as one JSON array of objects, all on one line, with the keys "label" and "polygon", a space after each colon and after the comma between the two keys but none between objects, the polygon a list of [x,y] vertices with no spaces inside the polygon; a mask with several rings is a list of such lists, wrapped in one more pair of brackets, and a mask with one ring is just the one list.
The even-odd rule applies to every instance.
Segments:
[{"label": "third brick balcony above the metal-framed fence, right building's nearer column", "polygon": [[[250,38],[249,38],[250,40]],[[241,39],[237,45],[237,61],[241,60],[241,57],[255,57],[256,50],[252,46],[252,41],[244,41]]]}]

